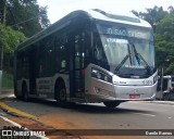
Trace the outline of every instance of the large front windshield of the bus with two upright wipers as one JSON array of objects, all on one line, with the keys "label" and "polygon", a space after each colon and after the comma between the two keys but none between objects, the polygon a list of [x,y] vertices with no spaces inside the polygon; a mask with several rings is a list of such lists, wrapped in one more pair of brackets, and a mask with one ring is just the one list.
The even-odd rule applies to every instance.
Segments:
[{"label": "large front windshield of the bus with two upright wipers", "polygon": [[[154,68],[154,46],[150,29],[108,24],[97,24],[97,28],[102,47],[100,53],[104,53],[100,61],[114,66],[115,74],[133,76],[152,74]],[[99,42],[97,42],[97,46],[99,46]]]}]

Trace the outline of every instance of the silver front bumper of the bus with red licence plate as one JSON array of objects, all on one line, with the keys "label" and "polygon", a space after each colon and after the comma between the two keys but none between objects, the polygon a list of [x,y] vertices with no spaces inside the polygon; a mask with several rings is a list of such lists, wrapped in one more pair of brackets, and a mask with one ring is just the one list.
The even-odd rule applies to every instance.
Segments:
[{"label": "silver front bumper of the bus with red licence plate", "polygon": [[142,101],[156,98],[157,84],[153,86],[116,86],[112,84],[94,84],[86,94],[88,102],[104,101]]}]

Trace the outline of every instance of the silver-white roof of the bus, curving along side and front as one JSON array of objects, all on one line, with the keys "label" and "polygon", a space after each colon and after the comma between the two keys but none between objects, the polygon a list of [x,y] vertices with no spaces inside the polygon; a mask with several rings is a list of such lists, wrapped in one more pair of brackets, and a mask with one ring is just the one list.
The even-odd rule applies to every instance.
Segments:
[{"label": "silver-white roof of the bus, curving along side and front", "polygon": [[23,48],[34,43],[35,41],[37,41],[41,38],[45,38],[49,34],[54,33],[54,31],[63,28],[66,24],[69,24],[71,22],[71,18],[77,17],[77,16],[151,28],[151,26],[148,22],[135,16],[133,13],[112,14],[112,13],[107,13],[104,11],[101,11],[99,9],[77,10],[77,11],[71,12],[70,14],[64,16],[63,18],[61,18],[58,22],[55,22],[54,24],[50,25],[48,28],[39,31],[38,34],[34,35],[33,37],[30,37],[26,41],[22,42],[17,47],[16,50],[23,49]]}]

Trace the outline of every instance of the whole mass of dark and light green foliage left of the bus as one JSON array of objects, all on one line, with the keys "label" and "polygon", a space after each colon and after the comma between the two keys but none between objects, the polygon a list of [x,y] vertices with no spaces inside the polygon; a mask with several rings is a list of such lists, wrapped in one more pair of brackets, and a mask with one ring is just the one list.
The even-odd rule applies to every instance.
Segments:
[{"label": "whole mass of dark and light green foliage left of the bus", "polygon": [[37,0],[0,0],[0,23],[4,25],[0,24],[3,70],[12,72],[10,61],[16,46],[50,25],[47,7],[39,7]]}]

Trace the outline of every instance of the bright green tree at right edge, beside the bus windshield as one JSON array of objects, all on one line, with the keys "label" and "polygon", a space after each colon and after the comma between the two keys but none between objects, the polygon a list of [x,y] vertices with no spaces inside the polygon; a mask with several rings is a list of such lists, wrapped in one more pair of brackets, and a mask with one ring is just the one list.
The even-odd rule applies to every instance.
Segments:
[{"label": "bright green tree at right edge, beside the bus windshield", "polygon": [[165,74],[174,74],[174,14],[167,14],[157,24],[157,61]]}]

